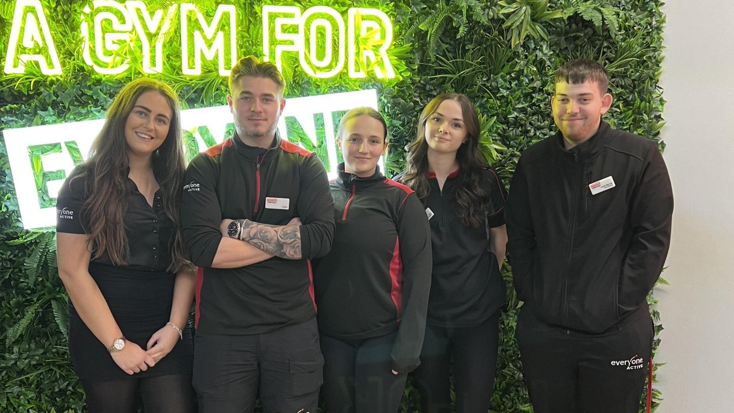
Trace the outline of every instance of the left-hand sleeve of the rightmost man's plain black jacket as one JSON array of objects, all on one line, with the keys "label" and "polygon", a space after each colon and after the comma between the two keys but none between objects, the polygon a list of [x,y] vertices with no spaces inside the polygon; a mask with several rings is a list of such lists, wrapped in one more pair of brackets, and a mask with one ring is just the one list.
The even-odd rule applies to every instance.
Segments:
[{"label": "left-hand sleeve of the rightmost man's plain black jacket", "polygon": [[520,157],[515,173],[512,175],[505,207],[507,252],[512,265],[512,283],[515,285],[517,299],[520,301],[526,301],[526,293],[529,293],[524,287],[526,287],[528,277],[532,276],[536,245],[528,199],[528,184],[523,172],[523,158]]}]

